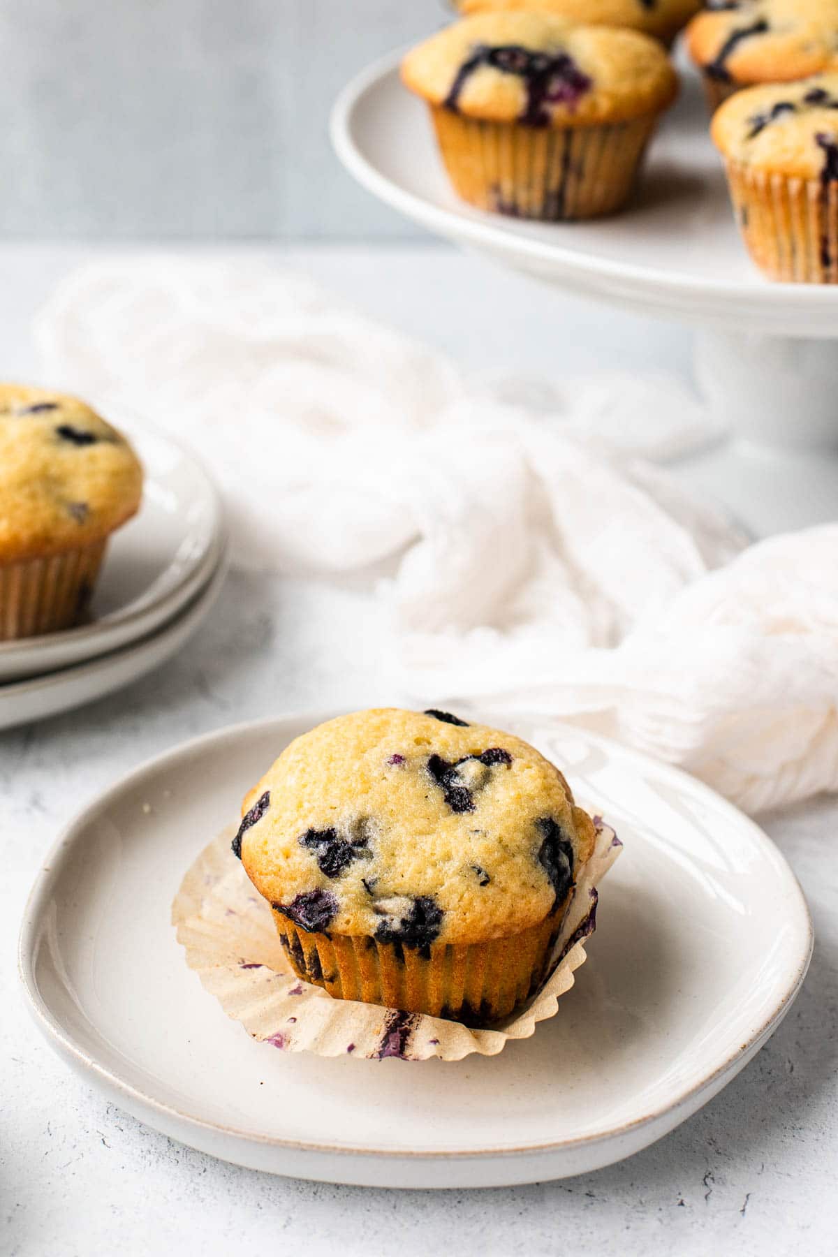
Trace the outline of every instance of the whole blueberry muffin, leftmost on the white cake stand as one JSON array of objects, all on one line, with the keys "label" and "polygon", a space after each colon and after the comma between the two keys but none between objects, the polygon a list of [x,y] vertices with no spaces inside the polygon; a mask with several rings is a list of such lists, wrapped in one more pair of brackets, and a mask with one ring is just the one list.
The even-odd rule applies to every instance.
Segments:
[{"label": "whole blueberry muffin, leftmost on the white cake stand", "polygon": [[547,221],[618,210],[677,91],[657,40],[529,10],[455,23],[408,53],[402,79],[465,201]]}]

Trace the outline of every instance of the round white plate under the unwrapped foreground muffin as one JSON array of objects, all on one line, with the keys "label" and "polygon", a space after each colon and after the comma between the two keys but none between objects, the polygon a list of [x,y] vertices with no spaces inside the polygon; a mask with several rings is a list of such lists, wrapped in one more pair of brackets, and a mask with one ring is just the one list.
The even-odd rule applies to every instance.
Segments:
[{"label": "round white plate under the unwrapped foreground muffin", "polygon": [[769,838],[705,786],[587,733],[518,722],[624,851],[558,1014],[500,1056],[324,1060],[256,1043],[185,963],[170,906],[245,791],[322,715],[240,725],[118,782],[62,835],[20,935],[29,1006],[108,1100],[195,1148],[303,1178],[490,1187],[646,1146],[776,1028],[812,926]]}]

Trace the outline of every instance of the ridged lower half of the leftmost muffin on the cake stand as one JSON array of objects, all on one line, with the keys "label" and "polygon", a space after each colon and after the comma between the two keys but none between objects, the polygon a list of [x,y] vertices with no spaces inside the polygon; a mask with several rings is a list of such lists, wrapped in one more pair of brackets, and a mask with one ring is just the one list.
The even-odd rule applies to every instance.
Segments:
[{"label": "ridged lower half of the leftmost muffin on the cake stand", "polygon": [[484,122],[431,107],[449,177],[464,201],[545,222],[619,210],[634,186],[656,113],[592,127]]}]

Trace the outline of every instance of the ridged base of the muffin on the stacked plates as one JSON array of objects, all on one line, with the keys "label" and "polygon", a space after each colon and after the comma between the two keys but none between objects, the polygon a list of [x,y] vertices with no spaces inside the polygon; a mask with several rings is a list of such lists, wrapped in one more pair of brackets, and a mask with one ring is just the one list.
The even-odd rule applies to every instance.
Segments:
[{"label": "ridged base of the muffin on the stacked plates", "polygon": [[0,564],[0,641],[74,625],[93,593],[108,541],[49,558]]}]

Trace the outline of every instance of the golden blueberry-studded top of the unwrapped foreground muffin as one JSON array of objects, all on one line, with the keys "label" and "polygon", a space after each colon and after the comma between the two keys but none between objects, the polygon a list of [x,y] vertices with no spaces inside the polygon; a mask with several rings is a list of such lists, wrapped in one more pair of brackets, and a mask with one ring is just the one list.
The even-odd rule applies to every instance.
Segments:
[{"label": "golden blueberry-studded top of the unwrapped foreground muffin", "polygon": [[425,950],[544,920],[594,840],[562,773],[520,738],[386,708],[291,742],[245,797],[232,850],[303,929]]}]

